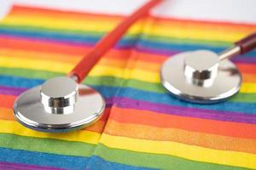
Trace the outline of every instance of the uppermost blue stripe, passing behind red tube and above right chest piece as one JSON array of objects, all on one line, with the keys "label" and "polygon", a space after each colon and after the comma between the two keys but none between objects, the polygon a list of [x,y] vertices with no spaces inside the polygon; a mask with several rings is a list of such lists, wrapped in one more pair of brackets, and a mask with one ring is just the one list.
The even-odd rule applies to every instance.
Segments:
[{"label": "uppermost blue stripe, passing behind red tube and above right chest piece", "polygon": [[[100,39],[99,36],[91,36],[90,34],[77,34],[77,33],[68,33],[63,34],[61,32],[54,31],[26,31],[26,30],[16,30],[10,28],[0,28],[0,35],[9,35],[15,37],[31,37],[37,38],[39,40],[46,41],[56,41],[56,42],[72,42],[79,43],[84,45],[94,45]],[[195,42],[196,43],[196,42]],[[136,44],[136,47],[134,45]],[[203,45],[203,44],[189,44],[189,43],[173,43],[173,42],[161,42],[150,41],[146,36],[138,37],[125,37],[119,41],[117,44],[118,48],[148,48],[150,50],[161,50],[166,53],[171,53],[173,51],[189,51],[196,49],[208,49],[216,53],[221,52],[225,47],[213,47],[212,45]],[[243,57],[256,57],[256,50],[243,55]]]}]

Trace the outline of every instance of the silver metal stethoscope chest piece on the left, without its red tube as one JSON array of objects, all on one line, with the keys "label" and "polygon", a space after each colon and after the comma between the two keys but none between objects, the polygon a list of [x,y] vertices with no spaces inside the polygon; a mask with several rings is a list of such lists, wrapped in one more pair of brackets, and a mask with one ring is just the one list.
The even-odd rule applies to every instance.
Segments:
[{"label": "silver metal stethoscope chest piece on the left, without its red tube", "polygon": [[67,132],[96,122],[105,108],[102,95],[69,77],[55,77],[20,94],[14,111],[26,127],[43,132]]}]

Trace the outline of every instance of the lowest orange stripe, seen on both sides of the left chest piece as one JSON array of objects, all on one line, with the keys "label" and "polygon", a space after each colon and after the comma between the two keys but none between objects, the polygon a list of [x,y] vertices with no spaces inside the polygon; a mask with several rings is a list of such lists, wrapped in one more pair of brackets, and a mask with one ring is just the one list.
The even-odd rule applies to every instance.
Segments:
[{"label": "lowest orange stripe, seen on both sides of the left chest piece", "polygon": [[[256,147],[254,147],[256,144],[255,139],[237,139],[215,134],[189,132],[175,128],[120,123],[108,119],[109,111],[111,110],[106,109],[98,122],[90,127],[84,128],[84,130],[86,129],[96,133],[103,133],[104,130],[104,133],[135,139],[174,141],[183,144],[199,145],[216,150],[235,150],[256,153]],[[12,110],[0,108],[0,112],[0,119],[15,121]],[[107,120],[108,123],[106,125]]]}]

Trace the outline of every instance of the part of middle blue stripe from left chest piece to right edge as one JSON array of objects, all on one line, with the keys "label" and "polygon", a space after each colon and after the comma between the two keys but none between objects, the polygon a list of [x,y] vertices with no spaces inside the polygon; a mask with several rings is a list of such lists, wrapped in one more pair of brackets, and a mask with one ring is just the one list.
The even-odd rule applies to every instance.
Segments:
[{"label": "part of middle blue stripe from left chest piece to right edge", "polygon": [[182,100],[172,97],[170,94],[157,94],[153,92],[146,92],[143,90],[138,90],[135,88],[112,88],[112,87],[103,87],[103,86],[93,86],[96,88],[105,98],[112,98],[113,94],[116,94],[117,90],[121,92],[117,95],[118,97],[125,97],[130,99],[137,99],[148,101],[156,104],[165,104],[165,105],[177,105],[184,108],[197,108],[197,109],[206,109],[214,111],[234,111],[247,114],[256,114],[256,105],[253,103],[236,103],[225,101],[218,104],[212,105],[199,105],[192,104],[189,102],[184,102]]}]

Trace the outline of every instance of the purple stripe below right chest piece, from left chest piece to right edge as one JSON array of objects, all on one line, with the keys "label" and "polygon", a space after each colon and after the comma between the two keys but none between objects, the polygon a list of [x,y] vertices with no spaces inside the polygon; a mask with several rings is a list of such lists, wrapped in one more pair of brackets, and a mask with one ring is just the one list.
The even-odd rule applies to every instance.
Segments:
[{"label": "purple stripe below right chest piece, from left chest piece to right edge", "polygon": [[196,108],[186,108],[177,105],[155,104],[142,100],[128,98],[107,99],[108,106],[117,105],[121,108],[155,111],[167,115],[191,116],[227,122],[245,122],[256,124],[256,115],[248,115],[230,111],[211,111]]}]

